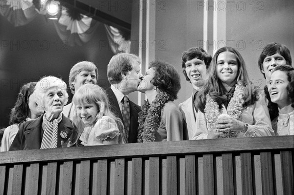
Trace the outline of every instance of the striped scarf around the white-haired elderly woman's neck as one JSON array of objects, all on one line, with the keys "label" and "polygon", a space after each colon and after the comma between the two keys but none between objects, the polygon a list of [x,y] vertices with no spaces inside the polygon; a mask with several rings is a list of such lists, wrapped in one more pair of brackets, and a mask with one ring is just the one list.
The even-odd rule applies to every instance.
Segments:
[{"label": "striped scarf around the white-haired elderly woman's neck", "polygon": [[60,113],[57,119],[54,119],[53,122],[49,122],[46,119],[46,113],[43,116],[43,121],[45,122],[45,129],[42,138],[41,148],[56,148],[57,147],[57,131],[58,124],[62,120],[62,113]]}]

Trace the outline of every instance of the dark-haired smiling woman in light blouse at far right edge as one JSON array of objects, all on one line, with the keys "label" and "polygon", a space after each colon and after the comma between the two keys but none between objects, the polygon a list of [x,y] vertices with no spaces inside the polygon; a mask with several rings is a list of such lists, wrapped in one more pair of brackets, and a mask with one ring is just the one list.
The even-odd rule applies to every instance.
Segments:
[{"label": "dark-haired smiling woman in light blouse at far right edge", "polygon": [[294,68],[276,66],[269,82],[269,111],[275,135],[294,135]]}]

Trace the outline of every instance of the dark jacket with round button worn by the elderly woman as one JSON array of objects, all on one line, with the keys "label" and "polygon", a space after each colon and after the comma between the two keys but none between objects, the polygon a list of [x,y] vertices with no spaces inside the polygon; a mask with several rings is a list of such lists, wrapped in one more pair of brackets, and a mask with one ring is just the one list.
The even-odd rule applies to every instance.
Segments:
[{"label": "dark jacket with round button worn by the elderly woman", "polygon": [[[23,150],[23,149],[40,149],[43,138],[42,133],[43,115],[33,121],[27,121],[20,124],[19,131],[16,134],[9,151],[11,150]],[[60,136],[61,131],[67,131],[68,136],[63,139]],[[70,138],[71,141],[75,141],[77,131],[73,127],[72,122],[62,114],[62,120],[58,124],[57,132],[57,147],[61,147],[61,141],[67,142]]]}]

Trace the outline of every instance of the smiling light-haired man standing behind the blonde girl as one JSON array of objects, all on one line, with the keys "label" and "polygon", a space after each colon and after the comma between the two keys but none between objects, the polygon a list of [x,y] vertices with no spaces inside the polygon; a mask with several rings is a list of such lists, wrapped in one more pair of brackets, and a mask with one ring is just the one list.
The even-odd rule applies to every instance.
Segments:
[{"label": "smiling light-haired man standing behind the blonde girl", "polygon": [[[70,72],[69,85],[72,91],[72,94],[76,92],[80,86],[86,83],[96,84],[98,79],[98,69],[92,62],[78,62],[73,66]],[[64,106],[63,114],[73,120],[73,102]],[[81,127],[82,128],[82,127]]]}]

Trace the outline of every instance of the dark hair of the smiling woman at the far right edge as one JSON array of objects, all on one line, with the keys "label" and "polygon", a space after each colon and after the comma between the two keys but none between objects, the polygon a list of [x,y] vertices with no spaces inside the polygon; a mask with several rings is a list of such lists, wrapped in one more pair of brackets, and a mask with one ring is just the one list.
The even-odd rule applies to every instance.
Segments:
[{"label": "dark hair of the smiling woman at the far right edge", "polygon": [[[287,85],[287,92],[289,99],[292,102],[291,106],[294,108],[294,68],[289,65],[278,65],[274,68],[273,72],[275,71],[282,71],[286,73],[289,81],[289,84]],[[265,94],[269,100],[268,108],[270,112],[270,120],[272,121],[279,115],[278,104],[271,102],[270,93],[267,87],[265,88]]]}]

